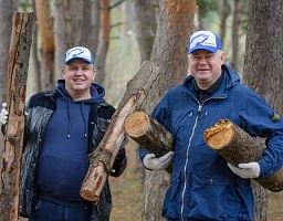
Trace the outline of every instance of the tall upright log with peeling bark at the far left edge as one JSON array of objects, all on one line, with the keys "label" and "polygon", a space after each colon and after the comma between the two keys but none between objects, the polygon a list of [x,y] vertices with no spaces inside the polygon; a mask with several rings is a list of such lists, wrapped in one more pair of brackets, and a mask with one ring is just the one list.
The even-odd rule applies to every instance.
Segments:
[{"label": "tall upright log with peeling bark at the far left edge", "polygon": [[9,52],[0,220],[18,220],[20,162],[23,149],[25,88],[32,42],[33,13],[15,12]]}]

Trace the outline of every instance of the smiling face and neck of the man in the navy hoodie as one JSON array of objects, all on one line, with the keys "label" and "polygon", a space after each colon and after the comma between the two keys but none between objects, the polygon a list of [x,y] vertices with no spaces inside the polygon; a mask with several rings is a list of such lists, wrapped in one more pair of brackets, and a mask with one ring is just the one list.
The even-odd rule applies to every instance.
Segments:
[{"label": "smiling face and neck of the man in the navy hoodie", "polygon": [[62,75],[65,80],[65,88],[74,99],[90,98],[90,87],[96,71],[93,64],[82,59],[71,60],[63,69]]}]

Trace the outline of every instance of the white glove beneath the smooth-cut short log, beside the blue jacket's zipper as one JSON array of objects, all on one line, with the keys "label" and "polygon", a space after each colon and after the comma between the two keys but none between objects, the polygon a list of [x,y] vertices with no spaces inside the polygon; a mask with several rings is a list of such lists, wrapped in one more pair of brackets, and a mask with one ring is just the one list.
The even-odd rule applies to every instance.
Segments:
[{"label": "white glove beneath the smooth-cut short log, beside the blue jacket's zipper", "polygon": [[144,158],[144,165],[147,169],[163,170],[170,166],[172,157],[174,151],[168,151],[159,158],[157,158],[155,154],[147,154]]}]

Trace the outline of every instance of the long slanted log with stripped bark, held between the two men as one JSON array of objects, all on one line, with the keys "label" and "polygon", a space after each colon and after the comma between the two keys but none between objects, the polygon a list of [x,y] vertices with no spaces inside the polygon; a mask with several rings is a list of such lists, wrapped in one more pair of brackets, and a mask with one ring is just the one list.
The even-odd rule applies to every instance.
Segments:
[{"label": "long slanted log with stripped bark, held between the two men", "polygon": [[90,154],[90,168],[80,191],[84,199],[99,200],[101,190],[126,136],[125,118],[140,108],[158,75],[158,67],[153,62],[145,61],[134,78],[128,82],[127,90],[112,117],[106,134],[96,150]]}]

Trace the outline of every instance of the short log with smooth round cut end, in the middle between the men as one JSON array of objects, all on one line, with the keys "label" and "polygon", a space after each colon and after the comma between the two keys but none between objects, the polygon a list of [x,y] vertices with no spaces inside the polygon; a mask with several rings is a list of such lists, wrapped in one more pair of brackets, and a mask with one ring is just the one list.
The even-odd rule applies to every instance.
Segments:
[{"label": "short log with smooth round cut end, in the middle between the men", "polygon": [[[128,115],[124,128],[132,139],[156,157],[161,157],[174,149],[172,135],[145,112]],[[171,173],[171,166],[166,168],[166,171]]]}]

